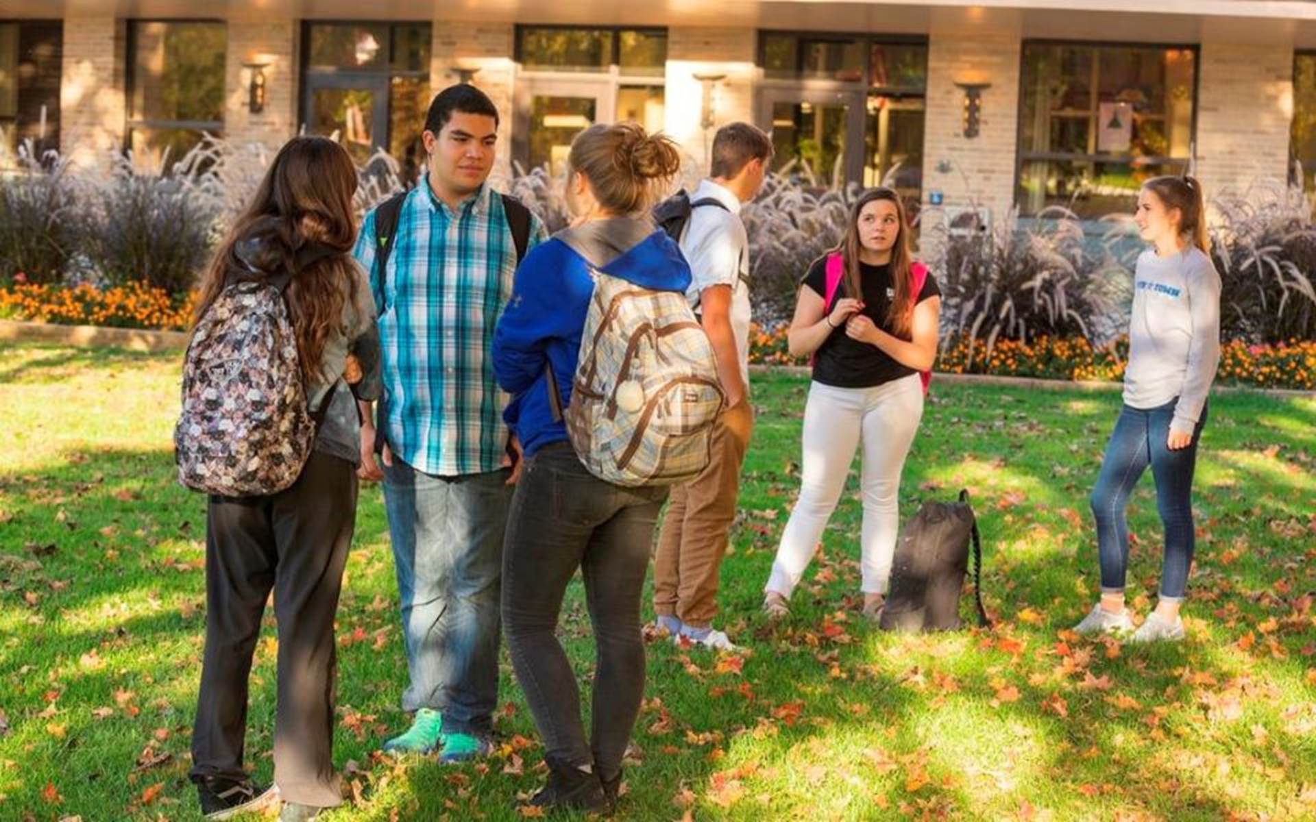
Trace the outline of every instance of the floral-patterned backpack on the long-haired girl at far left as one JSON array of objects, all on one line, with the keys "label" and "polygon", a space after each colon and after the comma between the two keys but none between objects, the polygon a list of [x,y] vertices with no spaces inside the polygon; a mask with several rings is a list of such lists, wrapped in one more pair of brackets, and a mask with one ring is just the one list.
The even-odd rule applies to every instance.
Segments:
[{"label": "floral-patterned backpack on the long-haired girl at far left", "polygon": [[230,280],[192,333],[174,458],[193,491],[276,493],[311,456],[316,425],[284,299],[291,279]]}]

